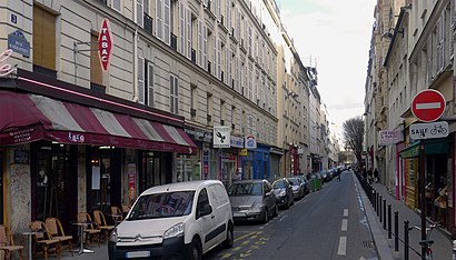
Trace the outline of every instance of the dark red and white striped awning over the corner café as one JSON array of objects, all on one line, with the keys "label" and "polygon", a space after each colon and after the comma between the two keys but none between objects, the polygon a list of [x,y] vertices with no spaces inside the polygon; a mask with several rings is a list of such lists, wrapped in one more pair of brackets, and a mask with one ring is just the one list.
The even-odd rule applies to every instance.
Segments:
[{"label": "dark red and white striped awning over the corner caf\u00e9", "polygon": [[0,144],[40,139],[194,153],[184,129],[43,96],[0,91]]}]

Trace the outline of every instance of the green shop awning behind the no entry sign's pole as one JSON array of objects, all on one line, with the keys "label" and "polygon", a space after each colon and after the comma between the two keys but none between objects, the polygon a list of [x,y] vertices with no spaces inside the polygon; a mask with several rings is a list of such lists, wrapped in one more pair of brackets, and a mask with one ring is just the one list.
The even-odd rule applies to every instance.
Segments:
[{"label": "green shop awning behind the no entry sign's pole", "polygon": [[[424,140],[424,143],[426,156],[448,153],[449,151],[449,139],[447,138]],[[419,141],[410,143],[404,148],[399,154],[403,159],[419,157]]]}]

